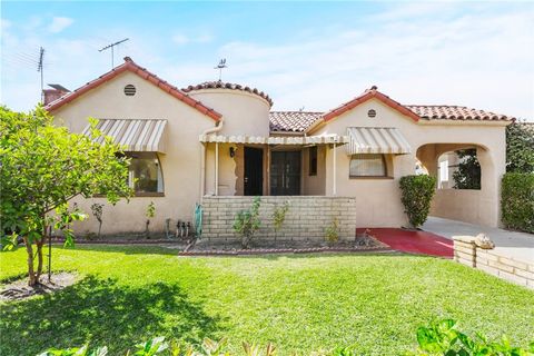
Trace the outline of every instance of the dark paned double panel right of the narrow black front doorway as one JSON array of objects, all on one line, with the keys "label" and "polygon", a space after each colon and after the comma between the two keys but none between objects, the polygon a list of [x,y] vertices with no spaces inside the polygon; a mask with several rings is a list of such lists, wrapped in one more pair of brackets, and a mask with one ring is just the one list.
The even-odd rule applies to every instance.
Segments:
[{"label": "dark paned double panel right of the narrow black front doorway", "polygon": [[300,195],[300,151],[270,152],[270,195]]}]

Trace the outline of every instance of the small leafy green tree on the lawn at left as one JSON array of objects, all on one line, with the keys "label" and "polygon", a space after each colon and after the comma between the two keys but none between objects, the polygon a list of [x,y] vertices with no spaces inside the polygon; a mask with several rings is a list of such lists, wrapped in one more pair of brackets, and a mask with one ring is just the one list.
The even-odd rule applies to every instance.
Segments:
[{"label": "small leafy green tree on the lawn at left", "polygon": [[[100,137],[98,121],[89,120],[92,138]],[[49,226],[63,231],[66,246],[73,245],[70,221],[85,215],[68,209],[70,199],[98,194],[115,204],[130,196],[129,161],[118,157],[118,151],[120,147],[109,137],[97,144],[55,126],[41,107],[30,113],[0,108],[0,233],[6,249],[14,248],[18,237],[22,238],[30,286],[38,284],[42,274]]]}]

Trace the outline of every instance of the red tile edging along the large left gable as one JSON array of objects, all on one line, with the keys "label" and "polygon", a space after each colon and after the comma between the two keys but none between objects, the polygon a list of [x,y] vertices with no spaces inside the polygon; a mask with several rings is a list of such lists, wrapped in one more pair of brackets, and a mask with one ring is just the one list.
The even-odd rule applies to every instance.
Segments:
[{"label": "red tile edging along the large left gable", "polygon": [[71,91],[61,98],[50,102],[44,107],[48,111],[53,111],[57,110],[58,108],[62,107],[63,105],[71,102],[72,100],[77,99],[78,97],[82,96],[83,93],[88,92],[91,89],[95,89],[96,87],[100,86],[101,83],[113,79],[115,77],[119,76],[120,73],[125,71],[130,71],[142,79],[146,79],[147,81],[151,82],[156,87],[160,88],[165,92],[168,92],[170,96],[177,98],[180,101],[184,101],[188,106],[197,109],[198,111],[202,112],[204,115],[207,115],[215,121],[219,121],[222,115],[219,112],[215,111],[211,108],[208,108],[204,103],[201,103],[198,100],[195,100],[194,98],[189,97],[187,93],[181,91],[180,89],[171,86],[167,81],[160,79],[158,76],[151,73],[147,69],[138,66],[136,62],[131,60],[129,57],[125,57],[125,62],[120,65],[119,67],[113,68],[112,70],[108,71],[107,73],[98,77],[97,79],[89,81],[87,85],[76,89],[75,91]]}]

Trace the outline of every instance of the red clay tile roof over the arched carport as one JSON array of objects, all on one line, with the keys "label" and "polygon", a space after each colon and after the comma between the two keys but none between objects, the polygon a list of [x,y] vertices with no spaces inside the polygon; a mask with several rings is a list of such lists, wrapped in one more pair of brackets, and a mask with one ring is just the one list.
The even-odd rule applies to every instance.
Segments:
[{"label": "red clay tile roof over the arched carport", "polygon": [[447,105],[406,105],[411,111],[427,120],[514,120],[506,115]]}]

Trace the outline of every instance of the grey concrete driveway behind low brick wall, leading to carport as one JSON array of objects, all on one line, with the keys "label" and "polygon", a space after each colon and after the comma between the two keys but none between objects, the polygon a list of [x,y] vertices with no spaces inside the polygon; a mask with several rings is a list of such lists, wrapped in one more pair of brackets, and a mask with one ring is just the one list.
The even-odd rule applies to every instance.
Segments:
[{"label": "grey concrete driveway behind low brick wall, leading to carport", "polygon": [[477,226],[473,224],[428,217],[423,225],[423,230],[452,238],[454,235],[476,236],[486,234],[495,243],[495,251],[513,259],[534,261],[534,235],[527,233],[514,233],[504,229]]}]

